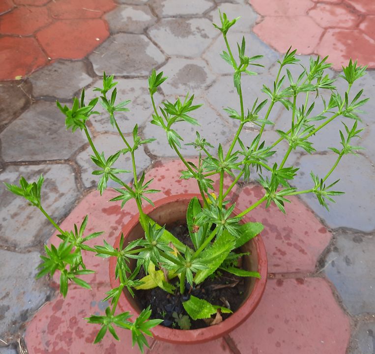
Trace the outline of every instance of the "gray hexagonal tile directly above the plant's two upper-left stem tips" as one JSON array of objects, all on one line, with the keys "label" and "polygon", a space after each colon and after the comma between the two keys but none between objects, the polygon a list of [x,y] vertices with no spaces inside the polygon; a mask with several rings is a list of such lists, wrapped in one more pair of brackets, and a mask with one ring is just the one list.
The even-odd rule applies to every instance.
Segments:
[{"label": "gray hexagonal tile directly above the plant's two upper-left stem tips", "polygon": [[89,56],[98,75],[103,71],[114,75],[147,75],[165,57],[150,40],[141,34],[118,33]]}]

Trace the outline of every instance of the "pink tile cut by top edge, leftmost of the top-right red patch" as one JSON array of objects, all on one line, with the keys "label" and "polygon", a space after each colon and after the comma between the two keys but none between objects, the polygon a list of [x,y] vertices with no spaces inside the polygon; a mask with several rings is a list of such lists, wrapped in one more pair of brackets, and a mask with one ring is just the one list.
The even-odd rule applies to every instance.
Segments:
[{"label": "pink tile cut by top edge, leftmost of the top-right red patch", "polygon": [[251,0],[251,4],[263,16],[305,15],[314,6],[311,0]]}]

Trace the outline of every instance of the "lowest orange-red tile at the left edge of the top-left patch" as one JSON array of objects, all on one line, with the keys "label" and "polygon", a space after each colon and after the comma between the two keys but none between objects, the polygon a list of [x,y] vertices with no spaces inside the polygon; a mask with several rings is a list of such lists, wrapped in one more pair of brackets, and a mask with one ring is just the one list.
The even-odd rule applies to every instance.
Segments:
[{"label": "lowest orange-red tile at the left edge of the top-left patch", "polygon": [[0,48],[0,80],[14,80],[47,63],[34,38],[4,36],[0,38]]}]

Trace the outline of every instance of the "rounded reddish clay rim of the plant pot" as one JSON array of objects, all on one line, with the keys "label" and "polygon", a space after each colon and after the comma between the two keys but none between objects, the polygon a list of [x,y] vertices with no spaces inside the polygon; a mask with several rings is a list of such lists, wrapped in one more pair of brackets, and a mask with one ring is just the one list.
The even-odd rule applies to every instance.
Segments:
[{"label": "rounded reddish clay rim of the plant pot", "polygon": [[[183,193],[168,196],[166,198],[159,199],[154,203],[155,207],[151,205],[144,208],[144,213],[148,214],[151,211],[155,210],[156,208],[173,203],[175,201],[185,199],[190,200],[194,197],[202,198],[199,194],[193,193]],[[234,209],[234,213],[239,214],[240,210],[237,208]],[[245,217],[246,220],[246,217]],[[247,220],[249,221],[249,220]],[[122,232],[117,236],[114,247],[119,247],[119,241],[121,237],[121,233],[123,233],[124,237],[139,223],[139,214],[137,213],[133,216],[126,225],[124,225]],[[217,338],[220,338],[233,329],[238,327],[240,324],[245,322],[248,317],[254,312],[256,307],[258,306],[260,299],[264,293],[265,285],[267,282],[267,255],[263,240],[261,239],[260,235],[253,238],[250,242],[253,242],[258,255],[258,271],[260,273],[260,279],[256,279],[253,291],[242,304],[242,306],[235,311],[228,319],[223,321],[220,324],[216,324],[214,326],[199,328],[199,329],[189,329],[189,330],[182,330],[182,329],[173,329],[169,327],[165,327],[162,325],[157,325],[156,327],[152,328],[152,333],[154,338],[157,340],[161,340],[164,342],[174,343],[174,344],[193,344],[193,343],[203,343],[208,342]],[[119,286],[119,280],[115,279],[115,266],[116,261],[115,257],[110,258],[110,266],[109,266],[109,275],[110,275],[110,283],[113,288]],[[138,313],[136,309],[130,304],[130,302],[126,299],[125,294],[122,292],[120,298],[118,300],[118,305],[122,311],[130,311],[132,314]]]}]

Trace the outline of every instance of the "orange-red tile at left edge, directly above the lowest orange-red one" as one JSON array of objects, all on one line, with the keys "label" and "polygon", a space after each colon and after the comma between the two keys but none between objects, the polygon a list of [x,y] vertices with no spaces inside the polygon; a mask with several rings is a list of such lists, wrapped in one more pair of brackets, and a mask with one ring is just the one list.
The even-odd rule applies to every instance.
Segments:
[{"label": "orange-red tile at left edge, directly above the lowest orange-red one", "polygon": [[17,7],[1,16],[0,33],[30,35],[51,22],[46,7]]}]

